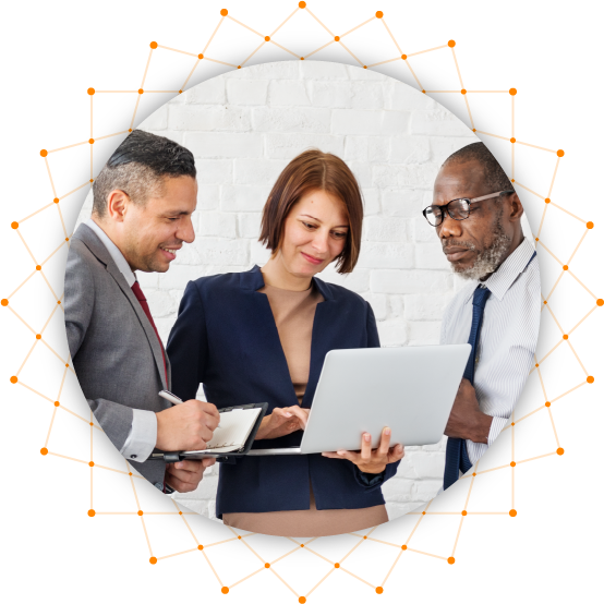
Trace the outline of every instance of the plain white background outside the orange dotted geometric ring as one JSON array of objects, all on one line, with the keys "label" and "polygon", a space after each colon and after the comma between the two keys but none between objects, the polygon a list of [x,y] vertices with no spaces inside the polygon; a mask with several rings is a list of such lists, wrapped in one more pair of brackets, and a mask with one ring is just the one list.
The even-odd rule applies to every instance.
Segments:
[{"label": "plain white background outside the orange dotted geometric ring", "polygon": [[[516,86],[516,123],[521,138],[551,148],[564,148],[566,157],[554,189],[555,201],[587,220],[595,222],[572,263],[572,270],[599,295],[604,283],[597,242],[604,222],[601,207],[600,98],[601,67],[596,63],[600,40],[596,15],[587,2],[484,2],[463,4],[433,1],[411,3],[383,0],[378,5],[323,1],[311,3],[333,29],[346,31],[385,11],[388,25],[407,50],[419,50],[457,40],[462,75],[472,88]],[[140,83],[148,43],[196,50],[228,8],[241,21],[259,31],[276,27],[294,2],[146,2],[143,9],[125,2],[96,7],[80,2],[28,4],[5,10],[2,45],[3,93],[2,146],[4,266],[1,297],[8,295],[33,269],[10,221],[17,220],[50,201],[50,188],[40,148],[53,148],[83,140],[88,129],[86,88],[130,88]],[[488,7],[488,8],[487,8]],[[309,17],[298,19],[292,28],[311,28]],[[244,32],[225,28],[225,36]],[[377,26],[361,31],[386,41]],[[220,38],[226,39],[226,38]],[[452,71],[447,51],[431,53],[430,60]],[[166,64],[173,60],[167,56]],[[158,62],[159,67],[160,65]],[[509,99],[488,97],[509,120]],[[107,99],[109,109],[117,99]],[[99,104],[100,105],[100,104]],[[97,112],[96,119],[100,118]],[[95,120],[96,121],[96,120]],[[551,178],[554,160],[533,154],[544,179]],[[69,155],[52,157],[53,174],[67,167]],[[582,231],[577,222],[564,220],[567,245],[572,249]],[[43,219],[24,226],[35,246]],[[596,274],[596,271],[599,274]],[[22,316],[34,323],[33,288],[14,299]],[[592,305],[573,288],[572,319]],[[566,449],[564,457],[521,466],[517,471],[517,518],[473,517],[466,522],[457,549],[457,564],[406,553],[379,602],[487,600],[505,602],[591,601],[597,595],[596,556],[602,545],[600,496],[600,424],[604,376],[599,354],[603,311],[597,311],[572,337],[582,361],[595,375],[595,384],[554,404],[554,418]],[[45,599],[61,602],[159,602],[218,601],[218,584],[201,554],[148,565],[148,552],[140,521],[133,517],[87,518],[88,469],[57,458],[39,456],[51,407],[20,386],[9,384],[32,337],[8,310],[0,312],[3,350],[0,374],[3,418],[0,437],[5,451],[4,498],[2,500],[2,581],[10,601]],[[567,359],[568,360],[568,359]],[[46,391],[39,362],[33,358],[22,379]],[[559,392],[582,380],[577,363],[569,359]],[[53,431],[50,448],[80,457],[60,426]],[[540,428],[526,456],[555,449],[552,428]],[[7,451],[11,451],[7,455]],[[19,455],[14,455],[19,451]],[[97,481],[95,507],[124,509],[124,504]],[[479,509],[509,508],[509,478],[481,503]],[[178,540],[150,527],[156,555],[183,547]],[[421,544],[428,552],[449,555],[455,528],[440,531]],[[251,565],[213,555],[226,583],[250,571]],[[353,570],[379,583],[394,555],[353,565]],[[597,570],[596,570],[597,569]],[[299,593],[310,589],[327,569],[283,569],[279,572]],[[336,572],[309,600],[328,602],[348,597],[352,602],[378,597],[370,588]],[[235,588],[225,602],[295,602],[268,571]]]}]

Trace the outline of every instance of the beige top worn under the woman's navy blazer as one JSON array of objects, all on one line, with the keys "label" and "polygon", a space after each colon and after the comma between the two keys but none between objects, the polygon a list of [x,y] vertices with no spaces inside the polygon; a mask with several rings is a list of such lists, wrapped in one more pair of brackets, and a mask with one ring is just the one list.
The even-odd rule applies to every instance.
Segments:
[{"label": "beige top worn under the woman's navy blazer", "polygon": [[[305,291],[290,291],[264,286],[258,291],[268,298],[300,404],[311,370],[311,343],[316,305],[323,302],[324,298],[313,288]],[[310,509],[233,512],[222,515],[222,520],[225,524],[234,529],[278,536],[326,536],[361,531],[388,521],[386,507],[383,505],[362,509],[317,510],[310,480],[309,488]]]}]

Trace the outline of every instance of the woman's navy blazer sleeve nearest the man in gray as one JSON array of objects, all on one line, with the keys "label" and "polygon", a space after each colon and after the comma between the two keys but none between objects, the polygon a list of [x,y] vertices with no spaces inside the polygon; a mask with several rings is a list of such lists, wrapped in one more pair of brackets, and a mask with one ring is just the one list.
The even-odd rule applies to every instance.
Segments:
[{"label": "woman's navy blazer sleeve nearest the man in gray", "polygon": [[172,369],[172,391],[182,400],[194,399],[204,380],[208,343],[204,306],[193,281],[184,290],[167,352]]}]

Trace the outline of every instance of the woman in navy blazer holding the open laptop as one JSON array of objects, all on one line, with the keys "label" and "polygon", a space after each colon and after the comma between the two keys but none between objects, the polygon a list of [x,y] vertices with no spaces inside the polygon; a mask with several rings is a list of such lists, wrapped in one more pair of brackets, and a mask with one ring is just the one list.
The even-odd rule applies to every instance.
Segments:
[{"label": "woman in navy blazer holding the open laptop", "polygon": [[[340,273],[352,270],[360,251],[362,216],[357,181],[341,159],[310,150],[291,161],[263,213],[261,241],[273,251],[268,263],[262,269],[254,266],[189,282],[167,347],[174,392],[183,400],[195,398],[203,384],[207,400],[218,409],[268,402],[254,448],[300,445],[327,352],[379,347],[370,304],[315,277],[331,262],[337,262]],[[267,294],[258,291],[265,286],[299,292],[312,288],[316,299],[323,300],[314,311],[310,371],[301,403],[274,311]],[[245,457],[221,463],[217,516],[309,510],[311,485],[316,510],[384,506],[380,485],[396,473],[403,449],[389,447],[387,430],[375,449],[371,436],[369,440],[365,436],[361,452]],[[264,438],[270,443],[263,443]],[[362,528],[367,527],[337,532]],[[326,534],[334,532],[327,529]],[[290,536],[307,534],[297,526]]]}]

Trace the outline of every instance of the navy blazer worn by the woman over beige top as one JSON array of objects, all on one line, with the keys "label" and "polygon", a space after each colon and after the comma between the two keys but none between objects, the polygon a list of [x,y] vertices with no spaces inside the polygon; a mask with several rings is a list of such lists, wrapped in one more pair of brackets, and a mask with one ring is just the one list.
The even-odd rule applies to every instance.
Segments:
[{"label": "navy blazer worn by the woman over beige top", "polygon": [[[302,407],[310,408],[329,350],[377,348],[379,338],[370,304],[357,293],[313,278],[324,302],[316,307],[311,369]],[[208,401],[218,409],[267,402],[275,408],[298,404],[279,333],[261,269],[202,277],[190,281],[168,340],[172,390],[183,400],[195,398],[203,383]],[[367,409],[367,412],[369,409]],[[254,448],[298,446],[302,431]],[[360,445],[360,442],[359,442]],[[221,463],[216,515],[310,508],[310,482],[317,509],[358,509],[384,504],[382,474],[365,474],[348,460],[318,454],[238,458]]]}]

